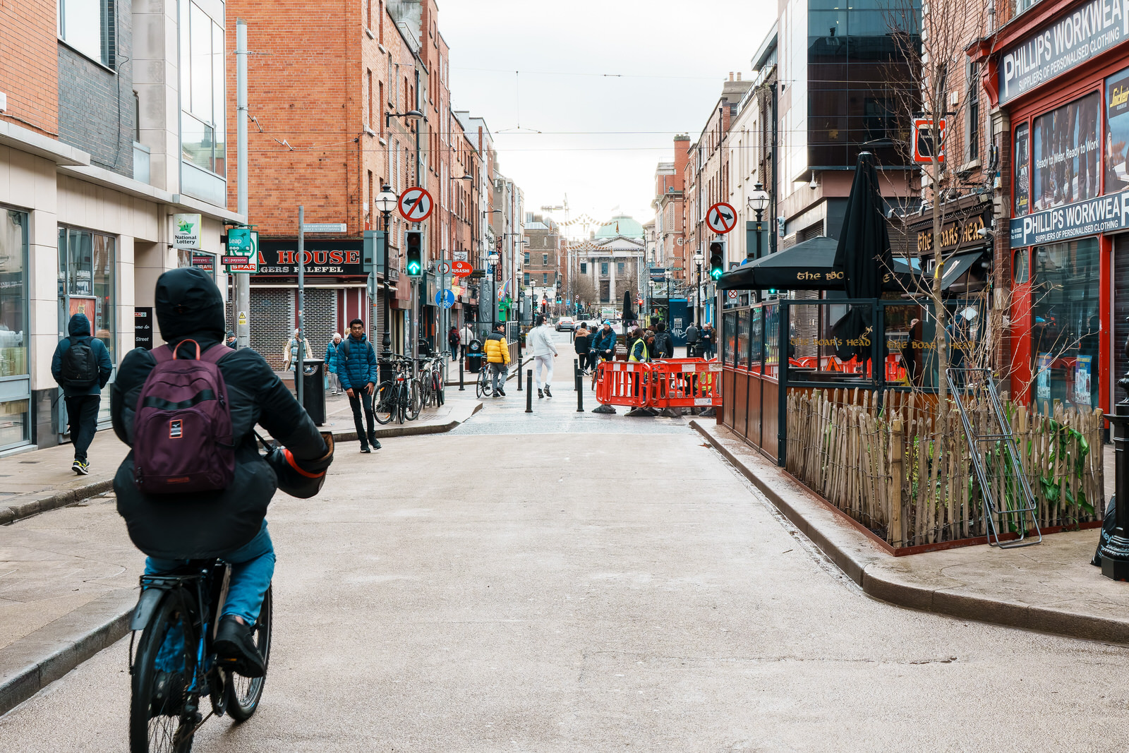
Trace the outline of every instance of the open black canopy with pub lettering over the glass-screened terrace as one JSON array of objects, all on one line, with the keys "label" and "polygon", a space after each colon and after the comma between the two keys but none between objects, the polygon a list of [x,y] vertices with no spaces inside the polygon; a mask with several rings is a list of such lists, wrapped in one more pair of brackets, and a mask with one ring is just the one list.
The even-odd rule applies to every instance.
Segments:
[{"label": "open black canopy with pub lettering over the glass-screened terrace", "polygon": [[[729,270],[717,281],[721,290],[842,290],[843,273],[834,269],[834,238],[812,238],[762,256],[755,262]],[[887,275],[885,290],[903,290],[912,283],[914,269],[903,259],[894,259],[894,269],[901,281]]]}]

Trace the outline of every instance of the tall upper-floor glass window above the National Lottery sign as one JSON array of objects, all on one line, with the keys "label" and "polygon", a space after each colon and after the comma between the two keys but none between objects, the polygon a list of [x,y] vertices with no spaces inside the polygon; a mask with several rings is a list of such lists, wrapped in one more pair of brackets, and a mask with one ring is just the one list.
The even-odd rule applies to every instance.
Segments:
[{"label": "tall upper-floor glass window above the National Lottery sign", "polygon": [[181,150],[184,161],[227,174],[224,27],[181,2]]}]

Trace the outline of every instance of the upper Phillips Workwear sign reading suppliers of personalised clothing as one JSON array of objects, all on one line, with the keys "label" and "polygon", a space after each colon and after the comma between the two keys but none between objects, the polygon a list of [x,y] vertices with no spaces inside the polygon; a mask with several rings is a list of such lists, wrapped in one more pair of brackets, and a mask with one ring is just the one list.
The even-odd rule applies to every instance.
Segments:
[{"label": "upper Phillips Workwear sign reading suppliers of personalised clothing", "polygon": [[1008,50],[999,61],[999,104],[1129,40],[1129,0],[1093,0]]}]

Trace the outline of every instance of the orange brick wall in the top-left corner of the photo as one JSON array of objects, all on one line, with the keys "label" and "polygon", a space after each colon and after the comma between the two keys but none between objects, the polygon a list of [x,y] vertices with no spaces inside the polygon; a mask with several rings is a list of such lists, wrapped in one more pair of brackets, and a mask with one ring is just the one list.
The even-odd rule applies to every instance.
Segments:
[{"label": "orange brick wall in the top-left corner of the photo", "polygon": [[8,111],[0,120],[59,131],[59,76],[55,61],[55,3],[0,2],[0,91]]}]

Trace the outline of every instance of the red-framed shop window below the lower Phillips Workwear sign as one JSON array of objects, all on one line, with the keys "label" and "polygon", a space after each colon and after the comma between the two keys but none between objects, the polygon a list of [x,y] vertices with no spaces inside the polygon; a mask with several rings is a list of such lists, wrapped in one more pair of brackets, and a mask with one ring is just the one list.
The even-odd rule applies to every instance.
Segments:
[{"label": "red-framed shop window below the lower Phillips Workwear sign", "polygon": [[1097,408],[1097,238],[1036,246],[1031,281],[1035,401]]}]

